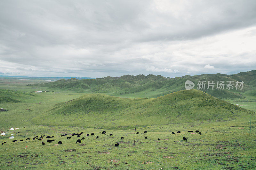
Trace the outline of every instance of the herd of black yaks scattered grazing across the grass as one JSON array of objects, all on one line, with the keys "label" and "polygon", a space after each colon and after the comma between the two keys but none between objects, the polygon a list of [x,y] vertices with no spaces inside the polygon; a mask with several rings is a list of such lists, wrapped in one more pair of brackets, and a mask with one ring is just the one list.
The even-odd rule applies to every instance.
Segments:
[{"label": "herd of black yaks scattered grazing across the grass", "polygon": [[[188,132],[193,132],[193,131],[188,131]],[[100,132],[100,134],[105,134],[105,133],[106,133],[106,131]],[[144,131],[144,133],[147,133],[147,131]],[[177,131],[177,133],[181,133],[181,131]],[[198,133],[198,135],[202,135],[202,132],[196,131],[196,133]],[[71,139],[71,137],[73,137],[73,136],[75,136],[75,135],[76,135],[77,137],[80,137],[81,134],[83,134],[83,132],[81,132],[81,133],[73,133],[71,136],[68,136],[67,139]],[[139,132],[136,132],[136,134],[139,134]],[[172,134],[175,134],[175,132],[173,131]],[[64,137],[64,136],[67,136],[67,135],[68,135],[68,134],[64,134],[64,135],[61,135],[61,136],[59,136],[59,137]],[[92,135],[94,135],[94,133],[91,133],[91,136],[92,136]],[[109,135],[110,135],[110,136],[113,136],[113,134],[109,134]],[[89,136],[89,134],[86,134],[86,137],[87,137],[87,136]],[[45,137],[45,135],[41,136],[40,138],[39,138],[38,136],[36,136],[36,137],[34,137],[32,140],[36,140],[36,139],[37,139],[37,141],[40,141],[40,140],[42,140],[44,137]],[[49,135],[48,135],[48,136],[46,136],[46,138],[54,138],[54,136],[49,136]],[[96,139],[97,139],[97,138],[99,138],[99,136],[97,136]],[[148,138],[148,137],[145,136],[145,139],[147,139],[147,138]],[[124,137],[121,137],[121,139],[124,139]],[[183,137],[182,139],[187,141],[187,138],[185,138],[185,137]],[[30,138],[26,138],[26,140],[30,140]],[[77,140],[76,140],[76,144],[77,144],[77,143],[81,143],[81,140],[84,140],[84,137],[82,137],[81,139],[77,139]],[[160,140],[160,138],[158,138],[157,140]],[[23,139],[20,139],[20,141],[23,141]],[[13,140],[12,142],[17,142],[17,140]],[[55,140],[54,140],[54,139],[49,139],[49,140],[47,140],[47,143],[52,143],[52,142],[55,142]],[[2,145],[4,145],[4,144],[6,144],[6,142],[2,143]],[[59,141],[58,144],[62,144],[62,142]],[[42,142],[42,145],[45,145],[45,143]],[[116,146],[119,146],[119,143],[116,143],[116,144],[115,144],[115,147],[116,147]]]}]

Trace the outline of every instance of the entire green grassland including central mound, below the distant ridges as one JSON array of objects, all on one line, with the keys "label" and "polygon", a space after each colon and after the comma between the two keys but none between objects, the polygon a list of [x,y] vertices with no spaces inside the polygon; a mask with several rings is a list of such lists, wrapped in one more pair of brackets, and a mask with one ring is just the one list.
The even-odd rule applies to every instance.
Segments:
[{"label": "entire green grassland including central mound, below the distant ridges", "polygon": [[[145,91],[140,91],[132,93],[133,98],[124,98],[132,95],[27,86],[35,83],[0,83],[0,107],[8,110],[0,112],[0,130],[7,133],[0,136],[0,143],[6,141],[0,146],[0,169],[256,169],[252,86],[243,92],[245,98],[223,101],[198,90],[164,92],[165,96],[158,96],[155,90],[154,98],[142,97]],[[135,124],[139,134],[134,145]],[[16,127],[19,130],[10,131]],[[81,137],[60,137],[80,132]],[[94,135],[86,137],[91,133]],[[11,134],[14,139],[9,139]],[[32,140],[43,135],[55,137]],[[85,139],[76,144],[82,137]],[[47,143],[49,139],[55,141]],[[58,141],[62,144],[57,145]],[[118,147],[114,147],[116,143]]]}]

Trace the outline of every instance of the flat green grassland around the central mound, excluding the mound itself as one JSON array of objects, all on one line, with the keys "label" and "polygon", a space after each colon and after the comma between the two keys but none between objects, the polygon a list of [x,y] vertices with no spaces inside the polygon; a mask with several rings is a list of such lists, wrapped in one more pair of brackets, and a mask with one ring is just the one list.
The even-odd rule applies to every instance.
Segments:
[{"label": "flat green grassland around the central mound, excluding the mound itself", "polygon": [[[16,86],[16,83],[2,83],[0,89],[35,91],[30,86],[25,86],[26,82],[19,86]],[[256,169],[256,120],[253,112],[236,114],[234,117],[211,117],[184,123],[170,121],[162,125],[137,126],[136,131],[140,133],[136,135],[134,145],[136,121],[129,124],[126,130],[122,124],[116,128],[111,124],[105,126],[105,129],[86,128],[93,122],[84,123],[84,126],[80,123],[77,126],[70,124],[72,120],[69,118],[61,118],[62,122],[58,124],[57,121],[54,126],[38,122],[41,117],[48,116],[49,110],[56,107],[56,104],[76,99],[82,93],[60,90],[57,93],[32,94],[34,96],[22,100],[19,98],[21,102],[18,103],[0,103],[0,107],[8,110],[0,112],[0,131],[7,132],[6,136],[0,136],[0,143],[7,142],[0,146],[0,169]],[[237,100],[230,103],[256,111],[256,102]],[[209,113],[210,109],[208,108]],[[52,119],[60,117],[65,115],[59,114]],[[69,125],[63,126],[63,121]],[[149,120],[144,121],[148,123]],[[12,127],[20,129],[8,130]],[[105,135],[99,133],[103,130],[107,131]],[[189,130],[199,130],[202,135],[188,132]],[[143,133],[144,131],[148,132]],[[172,131],[175,134],[172,134]],[[83,132],[81,137],[85,137],[85,140],[78,144],[76,139],[81,137],[59,137],[65,133],[70,136],[79,132]],[[86,134],[91,133],[94,133],[94,136],[86,137]],[[14,134],[17,142],[12,143],[13,139],[9,139],[11,134]],[[113,134],[113,137],[109,134]],[[55,137],[50,139],[54,139],[55,142],[47,143],[47,139],[44,138],[42,142],[46,145],[43,146],[41,141],[32,140],[33,137],[42,135],[54,135]],[[96,136],[99,138],[96,139]],[[148,139],[144,139],[145,136]],[[121,137],[124,139],[121,140]],[[183,137],[186,137],[187,141],[183,141]],[[26,141],[26,138],[31,140]],[[20,142],[20,139],[23,141]],[[62,141],[62,144],[55,146],[58,141]],[[119,146],[114,147],[117,142]]]}]

